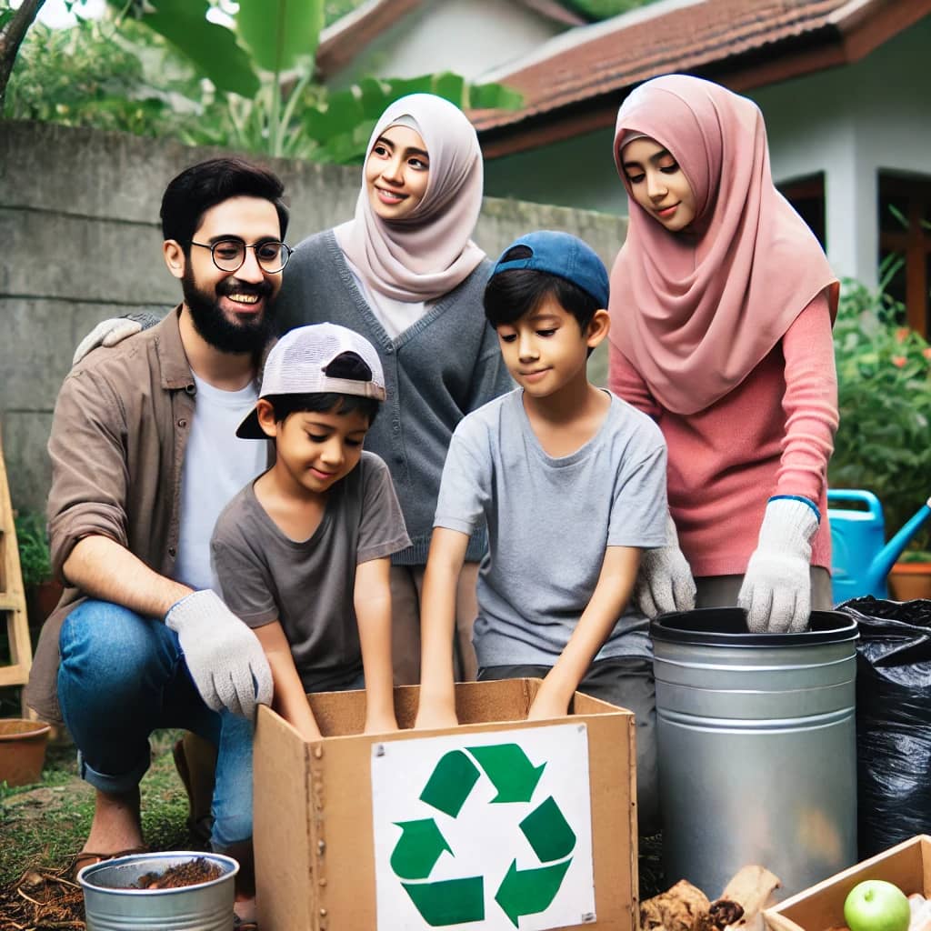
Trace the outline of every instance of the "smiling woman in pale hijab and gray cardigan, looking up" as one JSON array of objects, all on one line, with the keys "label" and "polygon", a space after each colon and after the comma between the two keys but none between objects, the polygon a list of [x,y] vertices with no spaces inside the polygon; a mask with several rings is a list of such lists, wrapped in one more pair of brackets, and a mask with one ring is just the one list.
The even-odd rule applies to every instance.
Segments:
[{"label": "smiling woman in pale hijab and gray cardigan, looking up", "polygon": [[[358,331],[385,368],[387,400],[365,448],[389,469],[412,546],[393,557],[395,680],[420,680],[420,590],[446,450],[468,412],[513,387],[485,322],[485,253],[471,236],[482,161],[449,101],[392,103],[369,142],[353,220],[305,239],[277,301],[282,329],[329,320]],[[471,627],[483,534],[457,593],[458,675],[475,678]]]}]

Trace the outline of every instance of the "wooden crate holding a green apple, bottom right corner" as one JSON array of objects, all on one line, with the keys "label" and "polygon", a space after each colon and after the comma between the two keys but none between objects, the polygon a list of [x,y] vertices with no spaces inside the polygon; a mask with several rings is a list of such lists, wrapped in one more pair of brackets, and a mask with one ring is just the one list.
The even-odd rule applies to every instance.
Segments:
[{"label": "wooden crate holding a green apple, bottom right corner", "polygon": [[796,896],[763,911],[770,931],[828,931],[843,926],[843,903],[857,883],[884,879],[895,883],[906,896],[920,892],[931,897],[931,837],[920,834],[911,841],[835,873]]}]

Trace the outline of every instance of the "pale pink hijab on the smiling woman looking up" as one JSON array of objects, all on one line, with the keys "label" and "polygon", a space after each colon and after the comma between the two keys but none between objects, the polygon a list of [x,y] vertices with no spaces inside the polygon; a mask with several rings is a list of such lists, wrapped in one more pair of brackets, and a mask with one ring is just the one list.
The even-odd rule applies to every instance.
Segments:
[{"label": "pale pink hijab on the smiling woman looking up", "polygon": [[475,128],[458,107],[433,94],[390,104],[371,134],[366,160],[379,136],[398,122],[420,133],[430,156],[424,199],[410,216],[386,223],[371,209],[363,169],[356,217],[334,232],[371,290],[415,304],[449,293],[485,257],[470,238],[483,171]]}]

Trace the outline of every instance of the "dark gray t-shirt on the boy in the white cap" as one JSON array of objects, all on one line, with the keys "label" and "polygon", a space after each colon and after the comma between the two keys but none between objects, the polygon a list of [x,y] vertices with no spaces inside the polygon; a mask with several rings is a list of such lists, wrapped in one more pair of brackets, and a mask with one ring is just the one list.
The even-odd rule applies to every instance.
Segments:
[{"label": "dark gray t-shirt on the boy in the white cap", "polygon": [[230,611],[250,627],[280,621],[304,688],[324,692],[362,668],[356,566],[410,545],[387,466],[362,452],[309,539],[282,533],[250,482],[217,520],[210,551]]}]

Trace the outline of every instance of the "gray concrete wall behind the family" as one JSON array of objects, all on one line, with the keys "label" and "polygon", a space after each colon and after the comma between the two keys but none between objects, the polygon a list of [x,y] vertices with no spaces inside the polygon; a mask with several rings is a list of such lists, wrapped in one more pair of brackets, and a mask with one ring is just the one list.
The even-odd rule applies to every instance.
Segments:
[{"label": "gray concrete wall behind the family", "polygon": [[[74,346],[101,319],[178,303],[161,257],[169,180],[221,154],[176,142],[41,123],[0,123],[0,429],[13,506],[45,507],[46,442]],[[353,215],[360,169],[272,160],[291,207],[288,241]],[[624,220],[486,198],[476,241],[489,254],[521,233],[562,229],[610,267]],[[603,353],[593,359],[603,378]]]}]

